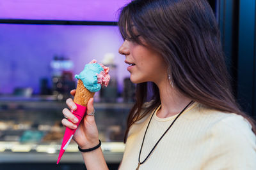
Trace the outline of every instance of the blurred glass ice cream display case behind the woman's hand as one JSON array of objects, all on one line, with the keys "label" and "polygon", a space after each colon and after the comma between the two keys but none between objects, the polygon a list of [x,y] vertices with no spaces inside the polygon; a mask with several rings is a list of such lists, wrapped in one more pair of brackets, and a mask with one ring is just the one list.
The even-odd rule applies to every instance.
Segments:
[{"label": "blurred glass ice cream display case behind the woman's hand", "polygon": [[[124,152],[125,122],[132,103],[95,102],[95,120],[108,164],[118,164]],[[54,163],[65,132],[61,124],[65,101],[48,97],[0,97],[0,162]],[[83,163],[71,141],[60,164]]]}]

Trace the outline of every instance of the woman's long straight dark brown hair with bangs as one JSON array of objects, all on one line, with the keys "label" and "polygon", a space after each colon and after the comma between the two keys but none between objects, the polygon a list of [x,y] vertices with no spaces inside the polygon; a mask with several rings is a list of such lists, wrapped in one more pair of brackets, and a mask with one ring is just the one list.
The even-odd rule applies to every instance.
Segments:
[{"label": "woman's long straight dark brown hair with bangs", "polygon": [[[206,0],[136,0],[121,9],[118,26],[124,39],[143,43],[132,31],[132,26],[150,48],[161,54],[168,64],[168,74],[179,92],[198,103],[225,113],[236,113],[246,118],[256,132],[253,119],[236,103],[225,66],[220,31]],[[140,115],[143,103],[154,102]],[[127,120],[127,130],[160,104],[156,84],[139,83],[136,102]]]}]

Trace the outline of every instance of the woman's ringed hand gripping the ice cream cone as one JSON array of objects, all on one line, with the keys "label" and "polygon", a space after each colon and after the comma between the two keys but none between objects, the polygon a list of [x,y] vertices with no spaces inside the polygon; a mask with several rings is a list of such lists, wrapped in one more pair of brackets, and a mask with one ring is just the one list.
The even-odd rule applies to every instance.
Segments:
[{"label": "woman's ringed hand gripping the ice cream cone", "polygon": [[[71,90],[70,94],[72,96],[75,96],[76,90]],[[68,108],[70,108],[71,110],[77,109],[76,104],[72,99],[67,99],[66,103]],[[92,113],[93,110],[93,98],[91,98],[88,101],[86,113]],[[73,113],[71,113],[71,111],[67,108],[63,109],[62,113],[71,122],[68,121],[66,118],[63,118],[63,120],[61,120],[61,123],[65,127],[69,127],[70,129],[76,129],[76,123],[78,120],[76,121],[76,117],[73,115]],[[84,115],[84,118],[81,120],[80,124],[76,129],[73,139],[82,149],[92,148],[99,144],[99,133],[94,116],[90,116],[87,114]]]}]

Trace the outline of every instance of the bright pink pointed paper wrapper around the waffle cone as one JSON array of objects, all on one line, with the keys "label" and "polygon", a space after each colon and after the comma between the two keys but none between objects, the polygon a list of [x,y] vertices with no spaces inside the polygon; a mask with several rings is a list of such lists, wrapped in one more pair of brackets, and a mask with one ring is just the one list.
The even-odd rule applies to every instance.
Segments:
[{"label": "bright pink pointed paper wrapper around the waffle cone", "polygon": [[[71,110],[71,112],[78,118],[78,122],[76,124],[78,127],[82,118],[84,117],[84,113],[86,112],[86,106],[81,106],[80,104],[76,104],[76,106],[77,106],[77,110],[76,111]],[[71,139],[73,138],[75,132],[76,132],[76,129],[69,129],[68,127],[66,127],[57,164],[59,164],[61,157],[62,157],[63,153],[65,152]]]}]

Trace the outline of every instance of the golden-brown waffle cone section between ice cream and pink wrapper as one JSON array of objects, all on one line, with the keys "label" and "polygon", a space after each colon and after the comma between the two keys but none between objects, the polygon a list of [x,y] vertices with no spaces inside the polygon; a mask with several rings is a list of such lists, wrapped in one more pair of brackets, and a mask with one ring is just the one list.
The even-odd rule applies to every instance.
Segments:
[{"label": "golden-brown waffle cone section between ice cream and pink wrapper", "polygon": [[77,81],[76,94],[74,96],[74,103],[80,104],[82,106],[87,106],[90,98],[94,96],[95,92],[90,92],[84,87],[83,81]]}]

